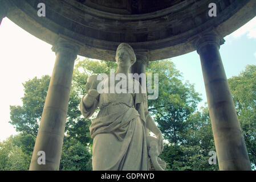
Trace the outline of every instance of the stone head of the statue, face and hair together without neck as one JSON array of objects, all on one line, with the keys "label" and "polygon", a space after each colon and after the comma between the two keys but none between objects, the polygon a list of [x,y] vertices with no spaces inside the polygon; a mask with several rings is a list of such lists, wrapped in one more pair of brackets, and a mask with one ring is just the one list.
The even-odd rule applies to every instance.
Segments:
[{"label": "stone head of the statue, face and hair together without neck", "polygon": [[116,49],[116,63],[121,67],[131,67],[135,62],[133,48],[127,43],[121,43]]}]

